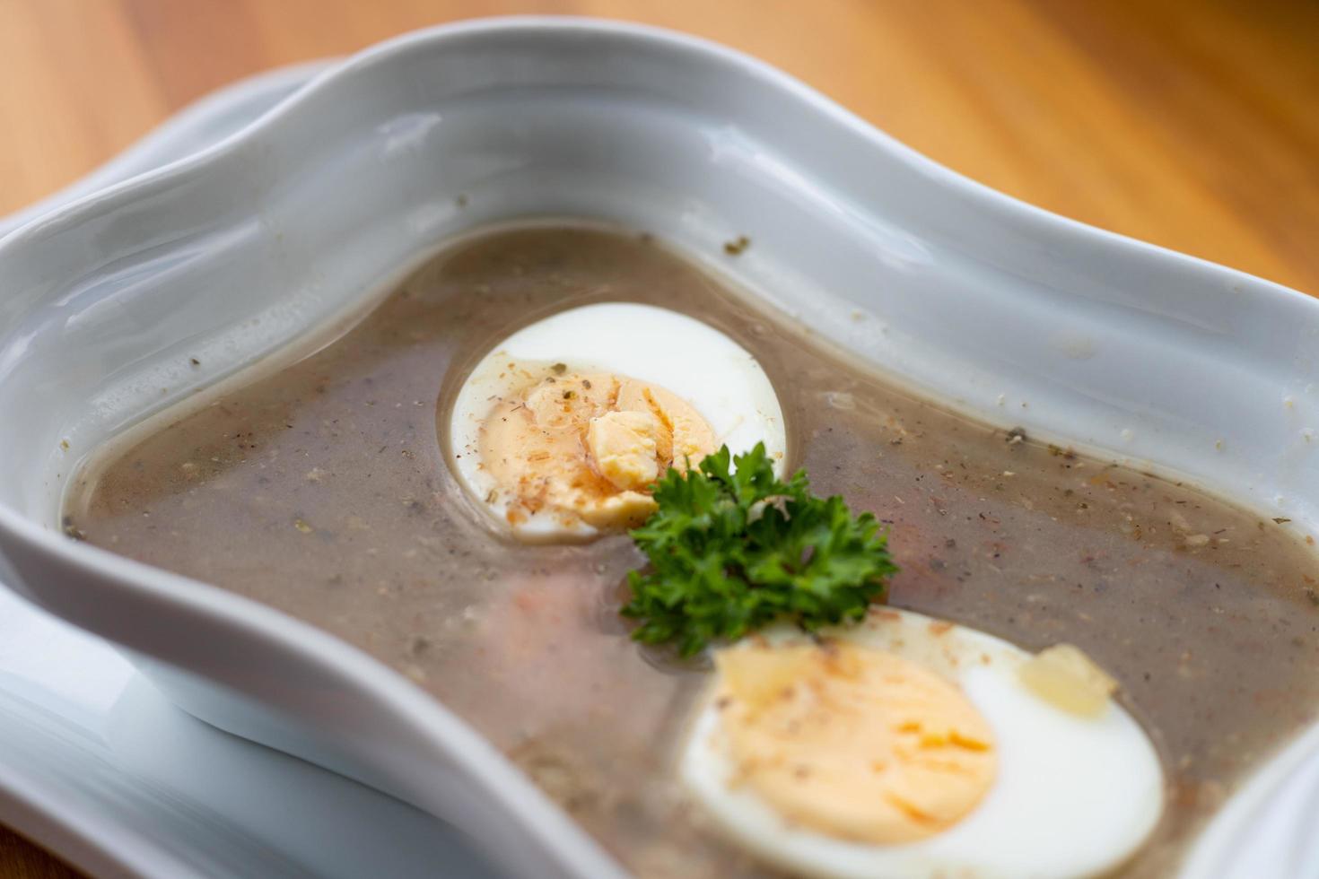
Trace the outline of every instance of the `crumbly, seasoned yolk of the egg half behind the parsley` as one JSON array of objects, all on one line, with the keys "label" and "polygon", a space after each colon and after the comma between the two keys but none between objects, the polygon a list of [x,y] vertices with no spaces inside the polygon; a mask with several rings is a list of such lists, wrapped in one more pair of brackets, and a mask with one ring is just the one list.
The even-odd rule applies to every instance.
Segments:
[{"label": "crumbly, seasoned yolk of the egg half behind the parsley", "polygon": [[[516,370],[509,364],[509,370]],[[481,424],[481,468],[510,525],[549,513],[565,525],[628,528],[656,509],[650,485],[715,451],[714,432],[658,385],[558,364],[496,403]]]}]

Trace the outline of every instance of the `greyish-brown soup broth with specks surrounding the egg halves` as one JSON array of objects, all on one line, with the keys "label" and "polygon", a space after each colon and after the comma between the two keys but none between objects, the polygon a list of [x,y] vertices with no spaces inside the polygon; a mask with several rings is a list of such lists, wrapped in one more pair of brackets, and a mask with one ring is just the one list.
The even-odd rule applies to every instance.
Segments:
[{"label": "greyish-brown soup broth with specks surrounding the egg halves", "polygon": [[707,669],[629,640],[630,540],[503,539],[441,448],[489,347],[603,300],[694,315],[760,360],[793,465],[889,525],[892,604],[1029,650],[1079,644],[1121,681],[1170,784],[1125,875],[1167,875],[1244,772],[1315,720],[1312,556],[1286,525],[915,399],[645,236],[529,227],[458,245],[331,345],[104,452],[69,527],[397,668],[641,875],[777,875],[677,780]]}]

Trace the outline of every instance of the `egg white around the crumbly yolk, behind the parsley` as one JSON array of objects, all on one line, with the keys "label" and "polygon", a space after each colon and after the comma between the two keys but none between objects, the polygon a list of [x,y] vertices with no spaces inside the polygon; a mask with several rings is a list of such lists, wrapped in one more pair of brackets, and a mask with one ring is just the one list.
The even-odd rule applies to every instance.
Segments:
[{"label": "egg white around the crumbly yolk, behind the parsley", "polygon": [[[538,320],[495,345],[459,390],[450,415],[450,456],[463,488],[499,523],[508,501],[481,469],[479,435],[495,401],[518,389],[508,364],[534,368],[565,364],[575,373],[613,373],[665,387],[706,419],[716,445],[733,455],[765,443],[782,474],[787,452],[783,412],[761,365],[751,352],[687,315],[628,302],[582,306]],[[501,525],[501,527],[504,527]],[[565,523],[537,514],[516,526],[525,539],[588,539],[598,530],[586,522]]]}]

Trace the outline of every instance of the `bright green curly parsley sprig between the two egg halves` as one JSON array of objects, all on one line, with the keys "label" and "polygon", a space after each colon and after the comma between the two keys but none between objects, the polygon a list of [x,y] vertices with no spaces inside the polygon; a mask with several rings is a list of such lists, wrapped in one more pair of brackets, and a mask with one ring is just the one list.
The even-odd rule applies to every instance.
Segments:
[{"label": "bright green curly parsley sprig between the two egg halves", "polygon": [[805,470],[783,482],[765,445],[728,447],[657,484],[656,513],[632,531],[650,565],[628,576],[632,637],[677,642],[683,656],[735,640],[777,619],[807,630],[855,622],[882,601],[897,572],[869,513],[818,498]]}]

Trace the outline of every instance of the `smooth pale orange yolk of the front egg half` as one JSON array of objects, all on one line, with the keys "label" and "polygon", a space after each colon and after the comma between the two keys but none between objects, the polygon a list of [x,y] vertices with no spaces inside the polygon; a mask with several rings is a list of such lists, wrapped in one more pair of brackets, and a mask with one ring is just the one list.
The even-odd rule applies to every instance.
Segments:
[{"label": "smooth pale orange yolk of the front egg half", "polygon": [[989,723],[954,684],[845,642],[751,643],[716,656],[723,743],[789,821],[900,843],[950,828],[989,791]]}]

